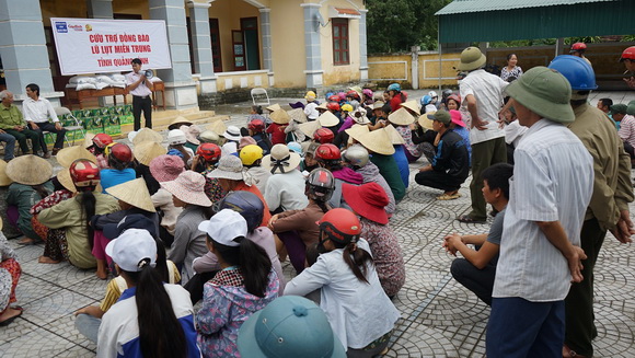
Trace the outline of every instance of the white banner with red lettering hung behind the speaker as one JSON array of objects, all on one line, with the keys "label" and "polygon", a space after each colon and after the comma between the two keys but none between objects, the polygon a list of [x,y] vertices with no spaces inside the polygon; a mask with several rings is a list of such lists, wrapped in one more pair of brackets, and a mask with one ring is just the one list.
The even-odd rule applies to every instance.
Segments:
[{"label": "white banner with red lettering hung behind the speaker", "polygon": [[145,69],[172,68],[162,20],[95,20],[51,18],[61,74],[130,71],[141,59]]}]

